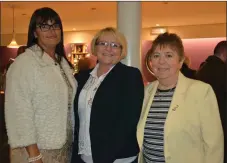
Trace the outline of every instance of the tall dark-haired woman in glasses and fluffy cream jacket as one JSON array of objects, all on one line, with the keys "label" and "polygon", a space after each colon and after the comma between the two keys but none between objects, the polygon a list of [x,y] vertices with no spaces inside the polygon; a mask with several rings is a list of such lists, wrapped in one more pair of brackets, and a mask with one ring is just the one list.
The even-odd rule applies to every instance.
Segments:
[{"label": "tall dark-haired woman in glasses and fluffy cream jacket", "polygon": [[68,163],[77,84],[64,53],[62,23],[54,10],[41,8],[33,13],[27,47],[6,77],[11,163]]}]

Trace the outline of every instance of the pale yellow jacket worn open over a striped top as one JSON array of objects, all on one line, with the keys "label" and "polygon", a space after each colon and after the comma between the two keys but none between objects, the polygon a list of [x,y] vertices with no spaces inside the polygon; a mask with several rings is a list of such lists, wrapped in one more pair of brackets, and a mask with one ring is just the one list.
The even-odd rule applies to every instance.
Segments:
[{"label": "pale yellow jacket worn open over a striped top", "polygon": [[[143,163],[144,126],[158,81],[146,87],[137,138]],[[224,140],[218,104],[210,85],[179,74],[164,126],[166,163],[223,163]]]}]

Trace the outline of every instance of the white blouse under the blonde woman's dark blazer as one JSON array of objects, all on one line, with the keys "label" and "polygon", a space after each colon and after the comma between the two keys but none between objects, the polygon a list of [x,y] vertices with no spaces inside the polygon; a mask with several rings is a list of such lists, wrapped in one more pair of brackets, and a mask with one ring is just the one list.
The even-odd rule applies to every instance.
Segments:
[{"label": "white blouse under the blonde woman's dark blazer", "polygon": [[[86,163],[93,163],[89,132],[92,102],[98,87],[114,66],[110,68],[107,73],[101,75],[100,77],[97,76],[98,67],[99,64],[97,64],[90,73],[89,79],[87,80],[86,84],[80,92],[78,102],[78,114],[80,121],[78,154],[81,154],[82,160]],[[118,159],[115,160],[114,163],[130,163],[135,158],[136,156],[126,159]]]}]

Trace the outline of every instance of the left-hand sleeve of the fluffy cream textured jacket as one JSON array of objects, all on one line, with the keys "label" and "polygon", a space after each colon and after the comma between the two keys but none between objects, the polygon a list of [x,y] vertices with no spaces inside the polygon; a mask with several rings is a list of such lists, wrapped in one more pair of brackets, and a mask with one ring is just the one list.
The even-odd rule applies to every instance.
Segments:
[{"label": "left-hand sleeve of the fluffy cream textured jacket", "polygon": [[36,143],[34,108],[34,67],[21,56],[9,68],[6,76],[5,120],[11,148]]}]

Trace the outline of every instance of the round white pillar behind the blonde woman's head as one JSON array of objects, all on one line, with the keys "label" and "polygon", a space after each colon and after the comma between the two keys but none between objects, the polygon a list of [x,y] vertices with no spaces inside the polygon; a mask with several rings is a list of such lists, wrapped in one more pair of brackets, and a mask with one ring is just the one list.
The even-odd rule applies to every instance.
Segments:
[{"label": "round white pillar behind the blonde woman's head", "polygon": [[117,28],[128,42],[122,63],[141,69],[141,2],[117,2]]}]

